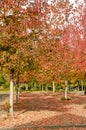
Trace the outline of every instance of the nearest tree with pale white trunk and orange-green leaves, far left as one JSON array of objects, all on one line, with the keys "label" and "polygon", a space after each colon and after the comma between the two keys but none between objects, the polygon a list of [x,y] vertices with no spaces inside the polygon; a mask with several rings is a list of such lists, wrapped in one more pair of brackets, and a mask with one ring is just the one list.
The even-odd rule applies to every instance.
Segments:
[{"label": "nearest tree with pale white trunk and orange-green leaves, far left", "polygon": [[1,69],[11,73],[11,115],[13,115],[13,75],[15,77],[17,73],[18,84],[19,73],[23,72],[30,53],[27,29],[29,18],[32,19],[29,9],[31,7],[26,10],[24,8],[26,4],[27,0],[2,0],[0,3],[0,64]]}]

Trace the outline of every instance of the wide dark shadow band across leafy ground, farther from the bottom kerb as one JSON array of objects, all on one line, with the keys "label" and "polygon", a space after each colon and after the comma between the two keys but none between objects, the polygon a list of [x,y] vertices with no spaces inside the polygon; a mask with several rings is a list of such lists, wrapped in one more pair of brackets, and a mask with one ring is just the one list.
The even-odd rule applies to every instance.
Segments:
[{"label": "wide dark shadow band across leafy ground, farther from the bottom kerb", "polygon": [[66,112],[69,108],[65,106],[68,104],[85,104],[85,96],[68,95],[71,100],[61,100],[63,94],[34,94],[22,93],[19,97],[19,103],[14,104],[14,111],[59,111]]}]

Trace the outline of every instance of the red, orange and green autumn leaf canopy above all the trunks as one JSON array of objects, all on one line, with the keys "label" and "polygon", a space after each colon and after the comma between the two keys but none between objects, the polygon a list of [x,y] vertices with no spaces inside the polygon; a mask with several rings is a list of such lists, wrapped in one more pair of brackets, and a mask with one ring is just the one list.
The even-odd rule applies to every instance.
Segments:
[{"label": "red, orange and green autumn leaf canopy above all the trunks", "polygon": [[[77,2],[77,1],[76,1]],[[15,80],[49,82],[86,73],[86,14],[69,0],[2,0],[0,70]]]}]

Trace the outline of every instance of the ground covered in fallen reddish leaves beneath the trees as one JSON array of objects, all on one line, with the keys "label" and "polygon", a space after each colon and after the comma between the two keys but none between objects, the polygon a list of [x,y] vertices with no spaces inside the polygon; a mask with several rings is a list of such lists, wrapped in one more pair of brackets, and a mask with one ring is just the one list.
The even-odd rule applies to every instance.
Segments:
[{"label": "ground covered in fallen reddish leaves beneath the trees", "polygon": [[[13,118],[5,118],[1,111],[0,128],[86,124],[86,96],[69,93],[70,100],[61,100],[63,96],[63,93],[21,93],[19,103],[14,103]],[[6,99],[8,100],[9,96]]]}]

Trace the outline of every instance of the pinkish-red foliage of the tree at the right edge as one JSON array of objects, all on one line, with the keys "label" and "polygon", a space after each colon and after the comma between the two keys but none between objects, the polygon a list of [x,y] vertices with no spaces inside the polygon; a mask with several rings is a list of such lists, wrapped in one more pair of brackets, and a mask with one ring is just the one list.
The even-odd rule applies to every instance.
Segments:
[{"label": "pinkish-red foliage of the tree at the right edge", "polygon": [[[78,3],[77,3],[78,5]],[[75,15],[71,18],[66,32],[62,37],[62,44],[71,49],[72,79],[84,79],[86,73],[85,56],[85,12],[84,6],[78,5]],[[76,15],[77,14],[77,15]],[[68,53],[69,54],[69,53]],[[67,63],[68,64],[68,63]],[[70,77],[70,76],[69,76]]]}]

